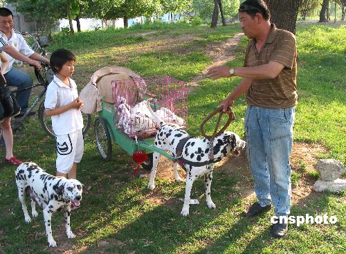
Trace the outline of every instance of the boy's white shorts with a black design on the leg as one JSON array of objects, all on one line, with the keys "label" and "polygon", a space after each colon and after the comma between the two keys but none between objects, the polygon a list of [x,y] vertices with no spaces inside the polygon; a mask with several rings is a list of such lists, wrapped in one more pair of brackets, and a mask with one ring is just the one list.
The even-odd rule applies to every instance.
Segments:
[{"label": "boy's white shorts with a black design on the leg", "polygon": [[66,135],[57,135],[57,171],[69,173],[73,163],[80,163],[84,152],[82,129]]}]

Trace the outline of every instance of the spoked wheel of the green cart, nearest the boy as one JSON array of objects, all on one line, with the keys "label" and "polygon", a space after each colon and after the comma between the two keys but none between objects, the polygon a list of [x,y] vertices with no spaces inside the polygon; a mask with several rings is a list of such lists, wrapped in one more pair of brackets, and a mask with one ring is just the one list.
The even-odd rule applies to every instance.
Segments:
[{"label": "spoked wheel of the green cart, nearest the boy", "polygon": [[100,152],[104,160],[109,161],[111,158],[111,135],[109,135],[109,130],[106,122],[97,118],[93,125],[95,131],[96,145],[98,145],[98,152]]}]

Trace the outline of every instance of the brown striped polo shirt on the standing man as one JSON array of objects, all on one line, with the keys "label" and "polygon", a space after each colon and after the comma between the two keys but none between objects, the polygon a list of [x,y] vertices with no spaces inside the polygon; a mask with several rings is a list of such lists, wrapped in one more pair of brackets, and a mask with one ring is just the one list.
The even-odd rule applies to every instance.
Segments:
[{"label": "brown striped polo shirt on the standing man", "polygon": [[246,102],[248,105],[271,109],[284,109],[297,104],[297,47],[295,36],[271,24],[271,32],[260,52],[255,39],[248,42],[244,67],[278,62],[284,69],[273,79],[253,80]]}]

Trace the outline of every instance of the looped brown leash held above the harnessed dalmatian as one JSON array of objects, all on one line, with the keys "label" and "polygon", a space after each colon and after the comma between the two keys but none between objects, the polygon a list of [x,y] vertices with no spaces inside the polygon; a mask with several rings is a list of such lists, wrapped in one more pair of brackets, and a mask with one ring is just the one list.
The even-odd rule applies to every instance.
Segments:
[{"label": "looped brown leash held above the harnessed dalmatian", "polygon": [[[217,124],[215,126],[213,134],[211,136],[209,136],[209,135],[206,134],[206,131],[204,130],[204,125],[206,125],[208,120],[210,120],[210,118],[212,118],[216,114],[219,114],[219,118],[217,118]],[[224,115],[224,114],[228,115],[227,123],[224,125],[224,127],[222,127],[219,131],[217,131],[217,129],[219,129],[219,125],[220,125],[220,121],[221,121],[222,115]],[[230,123],[233,120],[235,120],[235,113],[233,112],[232,108],[228,107],[227,111],[224,112],[224,107],[219,106],[214,111],[212,111],[212,113],[210,113],[209,116],[207,116],[203,120],[203,122],[201,123],[201,126],[199,127],[199,130],[201,131],[202,136],[205,137],[205,138],[208,138],[210,140],[210,144],[209,144],[209,160],[210,161],[214,160],[214,147],[213,147],[214,138],[216,136],[219,136],[222,133],[224,133],[224,131],[227,129],[228,126],[230,126]]]}]

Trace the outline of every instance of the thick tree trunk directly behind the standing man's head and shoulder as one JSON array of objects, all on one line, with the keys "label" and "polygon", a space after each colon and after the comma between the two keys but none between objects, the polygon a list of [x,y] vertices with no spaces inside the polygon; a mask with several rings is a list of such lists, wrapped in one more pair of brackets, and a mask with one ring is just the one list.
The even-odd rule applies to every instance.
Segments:
[{"label": "thick tree trunk directly behind the standing man's head and shoulder", "polygon": [[299,2],[300,0],[266,0],[271,11],[271,23],[277,28],[289,30],[295,34]]}]

